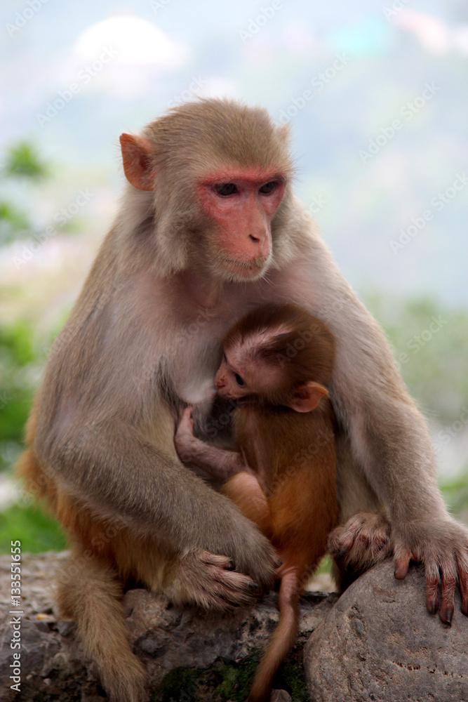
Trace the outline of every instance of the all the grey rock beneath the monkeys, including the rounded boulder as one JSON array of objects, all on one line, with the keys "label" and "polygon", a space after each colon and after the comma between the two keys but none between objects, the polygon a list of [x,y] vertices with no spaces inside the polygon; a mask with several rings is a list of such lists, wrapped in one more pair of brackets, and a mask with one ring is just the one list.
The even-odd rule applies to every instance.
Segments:
[{"label": "all the grey rock beneath the monkeys, including the rounded boulder", "polygon": [[[0,557],[0,699],[10,702],[99,702],[105,699],[93,663],[85,661],[74,625],[60,621],[51,582],[65,554],[22,556],[21,693],[10,690],[13,629],[9,622],[10,558]],[[171,607],[144,589],[129,590],[124,604],[135,653],[147,668],[152,689],[166,684],[174,669],[215,669],[251,661],[265,647],[278,618],[275,595],[234,614],[204,615]],[[336,603],[336,604],[335,604]],[[334,605],[334,606],[333,606]],[[302,661],[312,702],[468,702],[468,618],[457,596],[452,627],[427,614],[421,569],[396,581],[390,562],[375,567],[344,595],[308,593],[301,600],[301,628],[288,665]],[[13,615],[15,616],[15,615]],[[219,665],[218,665],[219,663]],[[216,666],[218,665],[218,668]],[[233,675],[232,671],[230,675]],[[237,671],[234,671],[234,676]],[[166,677],[168,676],[168,677]],[[185,678],[184,678],[185,680]],[[184,683],[185,684],[185,683]],[[223,683],[224,684],[224,683]],[[180,699],[222,700],[192,689],[187,678]],[[288,694],[276,691],[278,702]],[[159,694],[154,700],[159,699]],[[162,698],[162,697],[161,697]],[[166,699],[170,695],[166,693]],[[293,695],[293,702],[297,702]]]}]

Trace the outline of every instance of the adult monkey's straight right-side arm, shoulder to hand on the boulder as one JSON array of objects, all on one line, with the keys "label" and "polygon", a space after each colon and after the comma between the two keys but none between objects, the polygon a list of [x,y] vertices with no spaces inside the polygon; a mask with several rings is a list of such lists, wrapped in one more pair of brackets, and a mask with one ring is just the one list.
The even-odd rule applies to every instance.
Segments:
[{"label": "adult monkey's straight right-side arm, shoulder to hand on the boulder", "polygon": [[[440,615],[450,622],[458,576],[462,611],[468,614],[468,530],[446,510],[427,423],[408,395],[382,330],[313,232],[302,265],[293,270],[293,298],[308,298],[310,310],[330,326],[337,342],[330,397],[349,436],[355,465],[351,489],[363,474],[377,496],[375,510],[379,502],[384,505],[392,526],[396,577],[405,576],[410,559],[423,562],[427,608],[436,611],[441,581]],[[347,493],[346,484],[341,500],[345,519],[368,511],[364,503],[356,509],[356,497]],[[350,509],[347,503],[354,506]]]}]

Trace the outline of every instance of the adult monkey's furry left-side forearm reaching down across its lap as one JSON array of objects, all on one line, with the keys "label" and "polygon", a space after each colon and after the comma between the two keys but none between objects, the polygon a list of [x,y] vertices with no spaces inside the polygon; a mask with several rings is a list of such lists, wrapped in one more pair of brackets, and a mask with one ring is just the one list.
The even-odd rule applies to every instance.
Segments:
[{"label": "adult monkey's furry left-side forearm reaching down across its lap", "polygon": [[[164,413],[161,406],[161,422]],[[171,555],[178,567],[168,569],[162,587],[173,600],[222,607],[225,596],[232,604],[245,602],[252,580],[265,590],[271,586],[272,545],[227,498],[185,468],[174,449],[171,455],[156,448],[128,423],[100,426],[84,418],[61,433],[55,425],[48,431],[40,426],[34,449],[52,484],[96,517],[137,539],[151,538],[156,551]],[[220,571],[229,580],[233,566],[236,576],[250,577],[220,589],[226,580]]]}]

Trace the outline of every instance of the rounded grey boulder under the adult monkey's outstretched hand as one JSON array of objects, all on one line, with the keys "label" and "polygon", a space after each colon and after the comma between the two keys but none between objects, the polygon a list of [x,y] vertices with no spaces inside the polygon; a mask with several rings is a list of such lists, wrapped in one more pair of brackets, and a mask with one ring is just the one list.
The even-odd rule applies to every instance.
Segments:
[{"label": "rounded grey boulder under the adult monkey's outstretched hand", "polygon": [[430,615],[421,567],[396,581],[392,562],[353,583],[305,647],[314,702],[465,702],[468,618],[455,597],[451,628]]}]

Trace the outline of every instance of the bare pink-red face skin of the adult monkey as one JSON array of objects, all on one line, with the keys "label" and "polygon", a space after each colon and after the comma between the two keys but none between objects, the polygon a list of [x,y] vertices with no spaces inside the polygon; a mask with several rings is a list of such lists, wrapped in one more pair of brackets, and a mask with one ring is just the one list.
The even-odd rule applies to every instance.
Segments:
[{"label": "bare pink-red face skin of the adult monkey", "polygon": [[213,243],[227,277],[247,280],[267,270],[272,256],[272,218],[285,188],[286,177],[281,173],[232,166],[200,181],[201,208],[215,225]]}]

